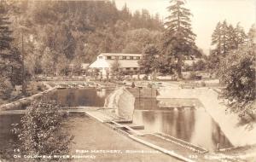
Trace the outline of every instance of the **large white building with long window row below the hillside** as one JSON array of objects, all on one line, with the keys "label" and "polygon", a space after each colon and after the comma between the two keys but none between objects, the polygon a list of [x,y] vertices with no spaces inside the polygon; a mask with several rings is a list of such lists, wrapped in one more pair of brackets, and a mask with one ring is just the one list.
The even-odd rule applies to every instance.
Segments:
[{"label": "large white building with long window row below the hillside", "polygon": [[96,61],[90,64],[89,68],[97,68],[105,76],[107,72],[111,73],[111,67],[118,59],[120,68],[123,71],[138,71],[138,61],[142,58],[142,54],[122,54],[122,53],[102,53],[97,56]]}]

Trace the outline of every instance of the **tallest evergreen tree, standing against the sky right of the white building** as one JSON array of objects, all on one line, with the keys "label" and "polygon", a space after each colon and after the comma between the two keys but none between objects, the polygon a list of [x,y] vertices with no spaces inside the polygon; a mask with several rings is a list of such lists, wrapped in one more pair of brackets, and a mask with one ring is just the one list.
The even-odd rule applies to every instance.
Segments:
[{"label": "tallest evergreen tree, standing against the sky right of the white building", "polygon": [[172,0],[167,9],[171,13],[166,19],[166,31],[163,37],[162,53],[172,66],[175,59],[177,73],[182,77],[183,60],[195,55],[195,33],[192,32],[190,24],[189,9],[184,8],[183,0]]}]

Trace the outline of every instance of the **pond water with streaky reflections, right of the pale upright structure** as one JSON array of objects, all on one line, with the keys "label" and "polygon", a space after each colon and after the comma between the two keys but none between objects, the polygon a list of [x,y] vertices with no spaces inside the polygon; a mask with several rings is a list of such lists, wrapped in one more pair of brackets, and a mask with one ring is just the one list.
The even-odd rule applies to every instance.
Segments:
[{"label": "pond water with streaky reflections, right of the pale upright structure", "polygon": [[[166,100],[168,99],[164,99]],[[149,133],[165,133],[211,151],[217,149],[218,143],[220,148],[233,147],[203,107],[169,108],[162,111],[159,106],[162,100],[150,102],[148,99],[140,99],[139,102],[135,107],[133,122],[143,124]],[[189,105],[189,101],[187,103]],[[191,104],[195,103],[191,101]]]}]

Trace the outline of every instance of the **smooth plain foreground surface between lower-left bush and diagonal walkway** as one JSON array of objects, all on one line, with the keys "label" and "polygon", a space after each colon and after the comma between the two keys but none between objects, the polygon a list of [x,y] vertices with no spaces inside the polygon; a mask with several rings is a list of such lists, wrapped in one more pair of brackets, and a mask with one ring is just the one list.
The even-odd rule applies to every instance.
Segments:
[{"label": "smooth plain foreground surface between lower-left bush and diagonal walkway", "polygon": [[[119,150],[120,153],[75,153],[77,155],[95,155],[96,159],[74,159],[86,162],[177,162],[178,159],[157,152],[153,148],[134,142],[128,136],[110,129],[95,119],[88,117],[70,118],[68,121],[70,133],[74,136],[72,153],[76,150]],[[138,152],[146,153],[138,153]],[[133,152],[133,153],[131,153]],[[135,153],[137,152],[137,153]]]}]

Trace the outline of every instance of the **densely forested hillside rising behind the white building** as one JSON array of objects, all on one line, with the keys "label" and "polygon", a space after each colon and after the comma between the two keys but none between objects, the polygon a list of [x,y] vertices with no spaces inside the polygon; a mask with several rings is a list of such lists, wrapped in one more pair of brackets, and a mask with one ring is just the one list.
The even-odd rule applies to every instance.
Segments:
[{"label": "densely forested hillside rising behind the white building", "polygon": [[141,53],[163,30],[158,14],[131,13],[114,1],[7,1],[15,47],[24,39],[30,74],[65,74],[102,52]]}]

